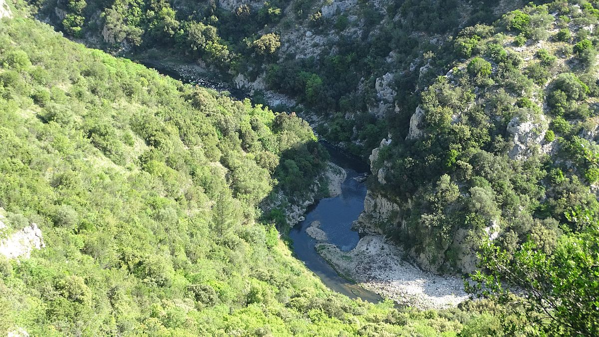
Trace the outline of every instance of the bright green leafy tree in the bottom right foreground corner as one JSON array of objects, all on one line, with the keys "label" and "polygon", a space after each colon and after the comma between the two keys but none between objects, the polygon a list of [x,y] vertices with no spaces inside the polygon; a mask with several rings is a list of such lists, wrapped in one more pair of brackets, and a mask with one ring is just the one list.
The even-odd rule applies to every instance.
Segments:
[{"label": "bright green leafy tree in the bottom right foreground corner", "polygon": [[[599,226],[563,235],[552,254],[530,239],[512,254],[494,243],[482,244],[480,271],[467,283],[470,292],[506,305],[524,315],[531,334],[599,334]],[[513,320],[511,321],[514,322]],[[507,329],[522,330],[514,323]]]}]

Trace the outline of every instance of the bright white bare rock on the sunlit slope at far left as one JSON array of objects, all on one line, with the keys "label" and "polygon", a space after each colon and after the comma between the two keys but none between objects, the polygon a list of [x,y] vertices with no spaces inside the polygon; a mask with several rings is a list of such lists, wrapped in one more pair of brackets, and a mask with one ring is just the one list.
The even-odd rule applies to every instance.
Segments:
[{"label": "bright white bare rock on the sunlit slope at far left", "polygon": [[[0,238],[3,232],[8,231],[8,226],[4,223],[5,221],[6,218],[0,215]],[[46,244],[44,244],[41,230],[35,223],[17,232],[10,233],[6,238],[0,239],[0,255],[8,259],[16,257],[25,257],[27,259],[31,256],[31,252],[34,249],[44,247],[46,247]]]}]

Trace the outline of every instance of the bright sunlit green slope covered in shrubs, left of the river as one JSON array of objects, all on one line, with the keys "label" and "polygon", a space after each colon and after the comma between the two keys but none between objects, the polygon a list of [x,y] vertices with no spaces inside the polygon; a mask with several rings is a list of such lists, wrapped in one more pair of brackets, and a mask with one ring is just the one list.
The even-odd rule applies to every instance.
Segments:
[{"label": "bright sunlit green slope covered in shrubs, left of the river", "polygon": [[[29,259],[0,257],[2,333],[462,329],[437,313],[335,295],[273,226],[256,222],[276,178],[297,183],[289,160],[313,180],[325,158],[305,122],[183,85],[15,15],[0,19],[2,236],[36,223],[46,247]],[[282,159],[288,165],[277,165]]]}]

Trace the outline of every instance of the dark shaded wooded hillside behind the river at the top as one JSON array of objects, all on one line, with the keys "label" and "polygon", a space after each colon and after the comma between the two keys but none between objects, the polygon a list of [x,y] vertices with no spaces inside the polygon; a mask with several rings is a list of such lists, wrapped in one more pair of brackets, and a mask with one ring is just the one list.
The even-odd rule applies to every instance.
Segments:
[{"label": "dark shaded wooded hillside behind the river at the top", "polygon": [[297,105],[320,135],[368,156],[451,62],[431,62],[447,37],[525,1],[30,3],[40,20],[93,47],[176,68],[184,60],[271,105]]}]

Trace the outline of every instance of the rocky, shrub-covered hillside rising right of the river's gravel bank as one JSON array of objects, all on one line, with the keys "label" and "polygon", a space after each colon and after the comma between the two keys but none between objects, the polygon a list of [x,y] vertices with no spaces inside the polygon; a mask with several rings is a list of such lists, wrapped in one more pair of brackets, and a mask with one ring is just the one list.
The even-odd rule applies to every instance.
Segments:
[{"label": "rocky, shrub-covered hillside rising right of the river's gravel bank", "polygon": [[372,153],[366,230],[425,269],[470,272],[483,237],[550,252],[585,229],[599,211],[594,6],[526,7],[453,39],[458,60]]}]

